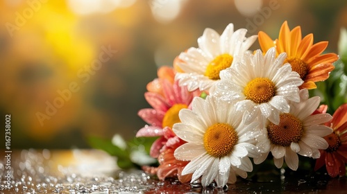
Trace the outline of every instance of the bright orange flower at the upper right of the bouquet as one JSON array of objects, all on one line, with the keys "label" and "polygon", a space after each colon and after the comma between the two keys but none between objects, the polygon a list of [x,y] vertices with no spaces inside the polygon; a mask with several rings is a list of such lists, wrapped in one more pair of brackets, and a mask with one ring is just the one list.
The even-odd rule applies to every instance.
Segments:
[{"label": "bright orange flower at the upper right of the bouquet", "polygon": [[300,89],[315,89],[314,82],[328,79],[330,71],[335,69],[332,62],[339,58],[335,53],[321,54],[328,46],[328,41],[313,44],[312,33],[301,38],[301,27],[289,30],[287,21],[282,24],[278,39],[273,40],[262,31],[258,33],[258,39],[263,52],[275,46],[277,55],[287,53],[285,62],[289,62],[291,69],[304,80]]}]

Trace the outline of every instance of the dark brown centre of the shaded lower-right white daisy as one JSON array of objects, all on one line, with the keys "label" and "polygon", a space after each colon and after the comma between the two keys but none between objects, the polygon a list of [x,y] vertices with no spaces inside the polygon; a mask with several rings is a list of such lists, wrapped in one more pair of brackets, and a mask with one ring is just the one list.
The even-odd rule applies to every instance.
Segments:
[{"label": "dark brown centre of the shaded lower-right white daisy", "polygon": [[270,123],[267,126],[269,139],[275,145],[289,146],[291,142],[298,143],[303,136],[303,125],[295,116],[285,113],[280,114],[280,123]]}]

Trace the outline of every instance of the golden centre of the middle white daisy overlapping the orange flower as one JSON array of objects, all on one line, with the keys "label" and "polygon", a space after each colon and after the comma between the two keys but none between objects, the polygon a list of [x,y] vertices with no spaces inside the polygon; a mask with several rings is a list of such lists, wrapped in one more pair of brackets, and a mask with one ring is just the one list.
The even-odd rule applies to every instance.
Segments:
[{"label": "golden centre of the middle white daisy overlapping the orange flower", "polygon": [[275,85],[268,78],[255,78],[244,87],[244,96],[255,103],[266,103],[275,96],[275,90]]}]

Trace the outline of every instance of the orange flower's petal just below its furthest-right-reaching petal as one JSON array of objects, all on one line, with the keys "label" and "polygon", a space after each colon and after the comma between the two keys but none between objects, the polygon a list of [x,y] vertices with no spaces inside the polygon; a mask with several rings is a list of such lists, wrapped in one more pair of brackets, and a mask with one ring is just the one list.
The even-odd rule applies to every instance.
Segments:
[{"label": "orange flower's petal just below its furthest-right-reaching petal", "polygon": [[308,72],[305,81],[324,81],[329,78],[329,73],[335,69],[335,66],[331,63],[321,63],[317,64],[310,69]]}]

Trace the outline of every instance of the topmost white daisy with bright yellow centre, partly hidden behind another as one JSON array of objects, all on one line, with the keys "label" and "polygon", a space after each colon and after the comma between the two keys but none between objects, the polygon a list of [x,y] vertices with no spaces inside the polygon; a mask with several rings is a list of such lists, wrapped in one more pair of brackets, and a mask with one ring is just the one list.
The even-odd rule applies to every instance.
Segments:
[{"label": "topmost white daisy with bright yellow centre, partly hidden behind another", "polygon": [[222,35],[206,28],[198,38],[198,48],[189,48],[179,55],[182,62],[178,67],[184,73],[177,73],[175,79],[180,86],[187,85],[189,91],[208,91],[219,80],[219,71],[239,61],[257,39],[257,35],[246,38],[246,32],[244,28],[234,32],[233,24],[229,24]]}]

